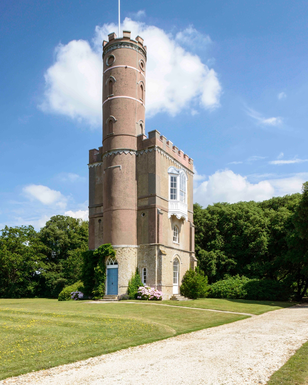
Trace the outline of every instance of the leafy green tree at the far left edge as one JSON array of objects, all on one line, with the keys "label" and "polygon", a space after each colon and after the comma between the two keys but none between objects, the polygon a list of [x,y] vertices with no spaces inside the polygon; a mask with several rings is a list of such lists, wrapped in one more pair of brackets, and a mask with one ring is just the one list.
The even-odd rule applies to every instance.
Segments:
[{"label": "leafy green tree at the far left edge", "polygon": [[20,298],[37,293],[45,251],[32,226],[5,226],[0,236],[0,297]]}]

